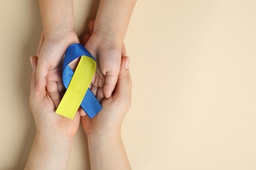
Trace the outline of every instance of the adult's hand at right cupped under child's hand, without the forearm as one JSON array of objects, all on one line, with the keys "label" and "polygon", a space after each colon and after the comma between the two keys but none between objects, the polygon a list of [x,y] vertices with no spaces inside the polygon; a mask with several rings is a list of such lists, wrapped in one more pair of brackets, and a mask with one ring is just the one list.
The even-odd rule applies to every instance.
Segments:
[{"label": "adult's hand at right cupped under child's hand, without the forearm", "polygon": [[90,119],[82,116],[81,122],[87,134],[106,135],[109,133],[119,133],[123,118],[127,114],[131,105],[131,75],[128,69],[129,58],[123,57],[121,69],[118,76],[116,88],[112,96],[103,99],[103,109]]}]

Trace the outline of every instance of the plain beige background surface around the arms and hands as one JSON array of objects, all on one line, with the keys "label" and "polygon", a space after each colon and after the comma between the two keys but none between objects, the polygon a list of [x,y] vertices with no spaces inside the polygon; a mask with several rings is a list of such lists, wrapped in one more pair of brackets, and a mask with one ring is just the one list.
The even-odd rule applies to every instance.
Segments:
[{"label": "plain beige background surface around the arms and hands", "polygon": [[[97,5],[75,0],[77,34]],[[255,0],[137,2],[125,37],[133,105],[123,141],[133,169],[256,169],[255,9]],[[35,135],[28,97],[37,1],[1,1],[0,21],[0,169],[22,169]],[[81,127],[69,169],[89,169]]]}]

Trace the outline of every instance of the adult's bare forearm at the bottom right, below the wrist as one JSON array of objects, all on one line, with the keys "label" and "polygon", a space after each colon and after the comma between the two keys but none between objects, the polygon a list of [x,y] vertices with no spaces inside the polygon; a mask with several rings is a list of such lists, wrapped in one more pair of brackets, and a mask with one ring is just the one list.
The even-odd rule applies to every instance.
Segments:
[{"label": "adult's bare forearm at the bottom right, below the wrist", "polygon": [[87,134],[91,169],[131,169],[121,134]]}]

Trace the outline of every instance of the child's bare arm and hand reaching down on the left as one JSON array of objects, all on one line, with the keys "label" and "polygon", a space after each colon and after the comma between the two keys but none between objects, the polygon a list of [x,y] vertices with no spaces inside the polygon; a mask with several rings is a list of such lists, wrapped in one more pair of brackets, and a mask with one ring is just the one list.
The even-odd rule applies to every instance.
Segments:
[{"label": "child's bare arm and hand reaching down on the left", "polygon": [[[38,92],[47,86],[49,70],[62,64],[66,48],[78,42],[74,26],[73,0],[39,0],[39,5],[43,33],[37,50],[39,60],[35,72]],[[53,86],[47,88],[50,92],[54,90]]]}]

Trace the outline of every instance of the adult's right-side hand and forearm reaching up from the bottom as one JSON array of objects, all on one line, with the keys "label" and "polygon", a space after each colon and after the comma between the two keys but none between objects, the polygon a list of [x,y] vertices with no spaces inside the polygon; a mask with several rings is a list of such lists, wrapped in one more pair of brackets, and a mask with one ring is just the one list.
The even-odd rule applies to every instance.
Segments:
[{"label": "adult's right-side hand and forearm reaching up from the bottom", "polygon": [[121,139],[121,124],[131,105],[132,83],[127,60],[129,58],[121,60],[115,91],[102,101],[102,111],[93,119],[81,117],[88,139],[91,169],[131,169]]}]

